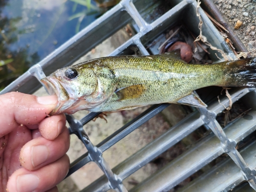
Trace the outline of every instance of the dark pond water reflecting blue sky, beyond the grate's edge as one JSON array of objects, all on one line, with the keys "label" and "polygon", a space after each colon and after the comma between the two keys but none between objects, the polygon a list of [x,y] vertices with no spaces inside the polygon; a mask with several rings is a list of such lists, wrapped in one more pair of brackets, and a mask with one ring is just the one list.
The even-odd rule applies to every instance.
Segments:
[{"label": "dark pond water reflecting blue sky, beyond the grate's edge", "polygon": [[0,90],[119,1],[0,1]]}]

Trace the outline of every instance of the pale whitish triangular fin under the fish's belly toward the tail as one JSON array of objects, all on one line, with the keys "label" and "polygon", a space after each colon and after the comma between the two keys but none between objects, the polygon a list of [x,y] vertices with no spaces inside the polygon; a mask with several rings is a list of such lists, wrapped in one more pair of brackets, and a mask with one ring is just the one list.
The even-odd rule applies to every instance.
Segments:
[{"label": "pale whitish triangular fin under the fish's belly toward the tail", "polygon": [[187,95],[177,101],[178,104],[195,106],[196,108],[206,108],[207,105],[194,93]]}]

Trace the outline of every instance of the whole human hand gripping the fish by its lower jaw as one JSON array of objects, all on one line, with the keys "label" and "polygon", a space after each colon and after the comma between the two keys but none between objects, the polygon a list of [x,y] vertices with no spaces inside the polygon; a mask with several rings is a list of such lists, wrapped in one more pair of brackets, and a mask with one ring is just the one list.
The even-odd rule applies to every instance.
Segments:
[{"label": "whole human hand gripping the fish by its lower jaw", "polygon": [[0,95],[0,191],[58,191],[68,173],[65,115],[46,118],[56,96]]}]

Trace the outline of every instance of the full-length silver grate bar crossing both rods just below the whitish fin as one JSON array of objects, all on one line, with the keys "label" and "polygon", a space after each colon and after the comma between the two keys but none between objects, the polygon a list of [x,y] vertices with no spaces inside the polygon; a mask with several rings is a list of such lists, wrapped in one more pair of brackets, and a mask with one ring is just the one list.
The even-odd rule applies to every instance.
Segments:
[{"label": "full-length silver grate bar crossing both rods just below the whitish fin", "polygon": [[[238,100],[241,97],[243,97],[249,91],[250,91],[250,89],[241,89],[241,90],[238,90],[237,92],[231,94],[231,97],[233,98],[233,101],[235,101],[236,99]],[[229,105],[228,98],[222,98],[220,101],[225,107],[227,107]],[[217,104],[220,105],[219,102],[217,102]],[[222,108],[220,108],[220,107],[216,108],[216,103],[214,103],[214,104],[210,105],[209,108],[214,109],[215,113],[218,114],[225,109],[224,106],[222,106]],[[206,110],[206,109],[204,109],[204,110]],[[211,115],[214,118],[216,116],[215,113],[211,112]],[[186,137],[188,134],[190,134],[195,129],[197,129],[199,126],[203,125],[205,123],[203,121],[203,119],[206,116],[201,115],[202,118],[198,118],[198,116],[199,116],[198,112],[194,112],[194,113],[188,115],[180,123],[178,123],[177,125],[172,127],[172,129],[168,130],[165,134],[163,134],[159,138],[155,139],[152,143],[148,144],[148,146],[145,146],[139,152],[137,152],[136,154],[134,154],[130,158],[126,159],[124,162],[120,163],[115,168],[113,168],[113,172],[116,173],[121,179],[125,179],[126,177],[128,177],[129,175],[134,173],[136,170],[138,170],[140,167],[144,166],[146,163],[150,162],[155,157],[157,157],[159,155],[158,153],[163,153],[170,146],[173,146],[178,141],[180,141],[182,138]],[[165,141],[166,141],[166,143],[164,143]],[[96,180],[95,183],[101,183],[102,180],[104,180],[103,177]],[[85,188],[84,191],[97,191],[98,190],[98,186],[97,186],[97,189],[94,188],[94,186],[96,186],[96,185],[92,184],[90,186]],[[105,187],[105,185],[103,185],[102,187]]]}]

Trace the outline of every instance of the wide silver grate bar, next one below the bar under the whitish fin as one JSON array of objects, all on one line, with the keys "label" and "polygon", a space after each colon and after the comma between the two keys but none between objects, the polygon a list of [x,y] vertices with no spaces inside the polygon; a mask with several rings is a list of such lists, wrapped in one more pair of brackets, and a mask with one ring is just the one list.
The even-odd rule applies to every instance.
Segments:
[{"label": "wide silver grate bar, next one below the bar under the whitish fin", "polygon": [[[248,114],[252,116],[251,120],[240,118],[225,127],[224,130],[230,139],[239,142],[256,130],[256,112],[251,111]],[[180,155],[130,191],[151,192],[169,190],[223,153],[224,150],[219,139],[214,134],[210,134],[197,143],[195,147]],[[155,182],[158,185],[155,185]]]}]

